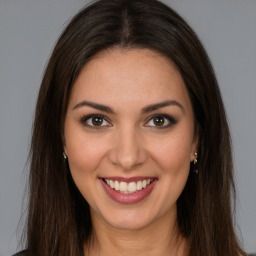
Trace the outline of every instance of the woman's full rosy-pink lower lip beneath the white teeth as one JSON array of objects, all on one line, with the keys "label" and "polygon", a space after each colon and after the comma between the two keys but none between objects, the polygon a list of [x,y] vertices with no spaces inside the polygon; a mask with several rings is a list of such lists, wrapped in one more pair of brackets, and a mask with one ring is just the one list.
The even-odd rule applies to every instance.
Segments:
[{"label": "woman's full rosy-pink lower lip beneath the white teeth", "polygon": [[100,182],[103,185],[108,196],[112,198],[114,201],[122,204],[134,204],[142,201],[143,199],[145,199],[147,196],[150,195],[157,180],[154,180],[151,184],[149,184],[144,189],[132,194],[120,193],[119,191],[116,191],[115,189],[112,189],[110,186],[108,186],[102,179],[100,179]]}]

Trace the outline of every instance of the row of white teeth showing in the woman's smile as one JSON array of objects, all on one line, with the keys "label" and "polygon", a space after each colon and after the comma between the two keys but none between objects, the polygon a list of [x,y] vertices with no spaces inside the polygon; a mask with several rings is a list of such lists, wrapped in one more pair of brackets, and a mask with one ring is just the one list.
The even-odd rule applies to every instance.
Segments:
[{"label": "row of white teeth showing in the woman's smile", "polygon": [[104,179],[105,182],[112,188],[115,189],[116,191],[120,191],[123,194],[132,194],[135,193],[136,191],[140,191],[147,187],[153,179],[147,179],[147,180],[139,180],[137,182],[132,181],[132,182],[124,182],[124,181],[117,181],[117,180],[109,180],[109,179]]}]

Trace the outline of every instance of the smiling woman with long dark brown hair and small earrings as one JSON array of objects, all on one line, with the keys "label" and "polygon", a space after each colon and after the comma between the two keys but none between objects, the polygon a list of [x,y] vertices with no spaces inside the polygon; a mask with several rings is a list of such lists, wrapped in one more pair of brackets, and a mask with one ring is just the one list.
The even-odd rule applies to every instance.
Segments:
[{"label": "smiling woman with long dark brown hair and small earrings", "polygon": [[192,29],[155,0],[78,13],[46,68],[24,255],[245,255],[230,136]]}]

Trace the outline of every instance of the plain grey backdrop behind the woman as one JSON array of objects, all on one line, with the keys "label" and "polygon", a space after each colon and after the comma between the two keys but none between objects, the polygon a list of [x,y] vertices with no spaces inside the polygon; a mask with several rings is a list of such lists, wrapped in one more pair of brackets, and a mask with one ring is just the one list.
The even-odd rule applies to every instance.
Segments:
[{"label": "plain grey backdrop behind the woman", "polygon": [[[88,1],[0,0],[0,256],[17,249],[32,118],[46,61]],[[230,123],[238,236],[256,251],[256,1],[166,0],[198,33]],[[54,157],[54,156],[53,156]]]}]

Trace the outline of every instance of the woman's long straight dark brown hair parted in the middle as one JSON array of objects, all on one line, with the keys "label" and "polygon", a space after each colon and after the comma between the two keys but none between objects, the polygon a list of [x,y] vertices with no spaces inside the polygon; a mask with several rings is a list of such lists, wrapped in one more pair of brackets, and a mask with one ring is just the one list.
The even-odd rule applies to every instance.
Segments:
[{"label": "woman's long straight dark brown hair parted in the middle", "polygon": [[[89,206],[63,160],[63,126],[72,86],[100,51],[147,48],[180,71],[199,131],[198,170],[178,199],[178,226],[190,256],[245,255],[234,233],[230,135],[215,75],[199,39],[156,0],[100,0],[81,10],[53,50],[42,80],[31,143],[27,225],[29,256],[83,255]],[[192,169],[192,166],[191,166]]]}]

